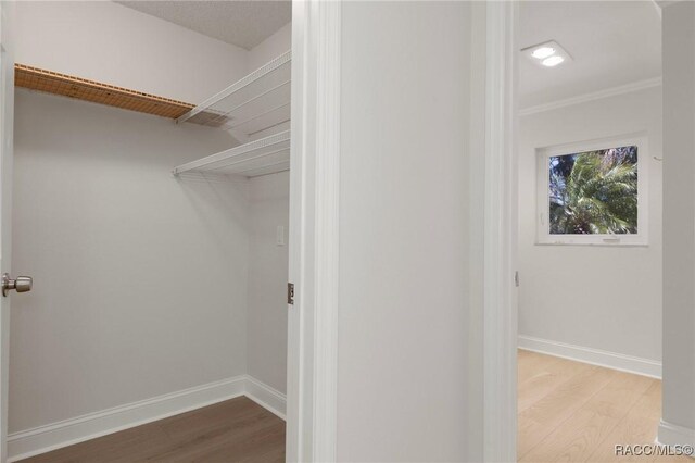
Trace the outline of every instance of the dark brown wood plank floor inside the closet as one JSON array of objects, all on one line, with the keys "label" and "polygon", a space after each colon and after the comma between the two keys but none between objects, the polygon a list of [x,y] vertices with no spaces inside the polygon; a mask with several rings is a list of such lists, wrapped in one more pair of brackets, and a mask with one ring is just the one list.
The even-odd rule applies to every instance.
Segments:
[{"label": "dark brown wood plank floor inside the closet", "polygon": [[285,422],[245,397],[23,462],[285,462]]}]

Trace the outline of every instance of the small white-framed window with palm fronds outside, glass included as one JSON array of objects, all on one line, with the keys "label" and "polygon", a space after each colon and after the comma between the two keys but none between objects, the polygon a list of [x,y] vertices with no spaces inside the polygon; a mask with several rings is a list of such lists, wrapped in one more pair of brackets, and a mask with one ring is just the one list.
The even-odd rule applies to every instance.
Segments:
[{"label": "small white-framed window with palm fronds outside, glass included", "polygon": [[644,137],[538,150],[541,245],[646,245]]}]

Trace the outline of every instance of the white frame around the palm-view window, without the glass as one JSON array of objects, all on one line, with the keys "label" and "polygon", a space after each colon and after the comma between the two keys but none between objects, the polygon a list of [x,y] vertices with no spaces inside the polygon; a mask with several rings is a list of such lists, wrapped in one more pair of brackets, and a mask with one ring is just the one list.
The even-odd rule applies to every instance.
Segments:
[{"label": "white frame around the palm-view window, without the glass", "polygon": [[[637,233],[551,235],[549,158],[627,146],[637,147]],[[536,245],[648,246],[648,139],[644,133],[536,148]]]}]

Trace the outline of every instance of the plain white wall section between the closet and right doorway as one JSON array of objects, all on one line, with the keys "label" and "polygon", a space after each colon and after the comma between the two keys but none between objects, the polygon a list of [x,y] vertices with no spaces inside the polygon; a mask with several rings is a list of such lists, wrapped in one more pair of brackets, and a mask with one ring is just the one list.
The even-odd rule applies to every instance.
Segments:
[{"label": "plain white wall section between the closet and right doorway", "polygon": [[339,461],[467,460],[470,9],[343,3]]}]

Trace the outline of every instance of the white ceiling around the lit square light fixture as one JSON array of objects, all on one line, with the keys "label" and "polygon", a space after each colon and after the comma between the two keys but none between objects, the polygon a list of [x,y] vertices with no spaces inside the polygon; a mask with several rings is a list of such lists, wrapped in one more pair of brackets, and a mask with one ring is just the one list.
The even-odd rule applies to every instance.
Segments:
[{"label": "white ceiling around the lit square light fixture", "polygon": [[652,1],[520,2],[519,49],[548,40],[573,61],[542,67],[519,54],[522,109],[661,75],[661,20]]}]

